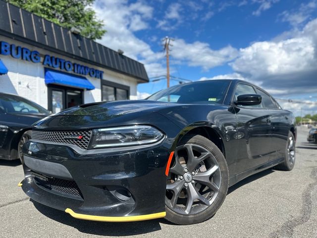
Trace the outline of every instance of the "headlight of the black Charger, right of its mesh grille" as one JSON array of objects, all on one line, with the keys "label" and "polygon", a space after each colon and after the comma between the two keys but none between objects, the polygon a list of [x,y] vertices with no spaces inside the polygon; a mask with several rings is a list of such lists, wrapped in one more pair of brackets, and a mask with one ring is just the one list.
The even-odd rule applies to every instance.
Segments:
[{"label": "headlight of the black Charger, right of its mesh grille", "polygon": [[163,133],[149,125],[94,129],[90,149],[145,145],[158,142]]}]

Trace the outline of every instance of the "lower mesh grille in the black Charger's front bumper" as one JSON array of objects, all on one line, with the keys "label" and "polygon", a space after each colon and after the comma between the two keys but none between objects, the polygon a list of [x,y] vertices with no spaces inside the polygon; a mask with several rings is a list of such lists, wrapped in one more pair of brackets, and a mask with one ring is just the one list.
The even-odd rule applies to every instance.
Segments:
[{"label": "lower mesh grille in the black Charger's front bumper", "polygon": [[64,194],[70,194],[78,198],[83,198],[83,194],[81,193],[75,181],[57,178],[48,178],[46,181],[36,177],[34,179],[38,185],[52,190],[52,192],[60,192]]}]

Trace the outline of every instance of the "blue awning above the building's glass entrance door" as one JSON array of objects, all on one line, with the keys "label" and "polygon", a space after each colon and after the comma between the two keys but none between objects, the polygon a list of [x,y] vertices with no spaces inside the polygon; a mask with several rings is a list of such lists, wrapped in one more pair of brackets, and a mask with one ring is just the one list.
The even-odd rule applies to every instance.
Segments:
[{"label": "blue awning above the building's glass entrance door", "polygon": [[85,88],[87,90],[95,89],[95,86],[85,77],[49,68],[45,68],[45,83],[53,83],[75,88]]}]

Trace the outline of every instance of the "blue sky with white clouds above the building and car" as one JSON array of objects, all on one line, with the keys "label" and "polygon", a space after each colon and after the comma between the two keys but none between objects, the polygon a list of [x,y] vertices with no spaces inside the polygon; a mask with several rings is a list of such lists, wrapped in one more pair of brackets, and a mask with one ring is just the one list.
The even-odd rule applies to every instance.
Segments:
[{"label": "blue sky with white clouds above the building and car", "polygon": [[[93,8],[107,30],[99,42],[143,62],[150,78],[166,74],[169,36],[173,76],[239,78],[275,98],[317,101],[317,0],[97,0]],[[165,87],[139,84],[139,97]],[[281,104],[317,113],[314,104]]]}]

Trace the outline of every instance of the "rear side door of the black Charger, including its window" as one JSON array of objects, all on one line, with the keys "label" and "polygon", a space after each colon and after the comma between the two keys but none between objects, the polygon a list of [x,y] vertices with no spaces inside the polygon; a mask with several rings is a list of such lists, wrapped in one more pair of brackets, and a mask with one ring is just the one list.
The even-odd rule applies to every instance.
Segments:
[{"label": "rear side door of the black Charger, including its window", "polygon": [[[238,83],[234,100],[242,94],[256,94],[250,84]],[[270,111],[256,106],[238,106],[237,135],[239,152],[237,153],[237,173],[258,167],[268,161],[271,151],[271,115]]]}]

